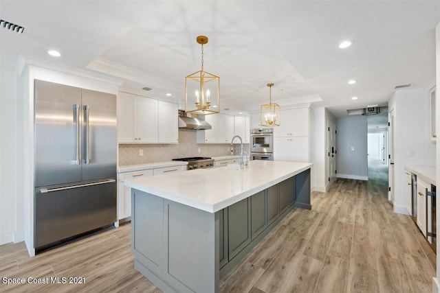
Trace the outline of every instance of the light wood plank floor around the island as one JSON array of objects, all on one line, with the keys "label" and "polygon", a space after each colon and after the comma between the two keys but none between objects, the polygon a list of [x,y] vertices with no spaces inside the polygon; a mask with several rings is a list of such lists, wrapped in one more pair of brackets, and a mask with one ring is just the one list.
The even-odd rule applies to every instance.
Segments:
[{"label": "light wood plank floor around the island", "polygon": [[[293,209],[221,280],[221,292],[432,292],[435,255],[384,180],[338,179]],[[0,278],[85,277],[85,284],[5,285],[0,292],[160,292],[133,268],[130,224],[28,257],[0,246]],[[204,292],[203,292],[204,293]]]}]

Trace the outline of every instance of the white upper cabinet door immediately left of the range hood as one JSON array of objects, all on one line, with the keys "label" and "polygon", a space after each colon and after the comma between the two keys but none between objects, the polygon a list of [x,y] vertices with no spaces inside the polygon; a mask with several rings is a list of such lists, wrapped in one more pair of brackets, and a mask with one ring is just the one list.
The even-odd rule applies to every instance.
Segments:
[{"label": "white upper cabinet door immediately left of the range hood", "polygon": [[157,104],[157,117],[160,119],[158,125],[159,143],[178,143],[179,142],[179,105],[159,101]]}]

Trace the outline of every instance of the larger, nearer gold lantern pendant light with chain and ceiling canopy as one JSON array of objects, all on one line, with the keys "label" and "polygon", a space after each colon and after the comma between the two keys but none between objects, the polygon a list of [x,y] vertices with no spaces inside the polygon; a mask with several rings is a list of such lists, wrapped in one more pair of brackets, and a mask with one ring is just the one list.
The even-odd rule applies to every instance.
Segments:
[{"label": "larger, nearer gold lantern pendant light with chain and ceiling canopy", "polygon": [[217,114],[220,110],[220,78],[203,71],[203,45],[208,43],[208,37],[197,36],[197,43],[201,45],[201,70],[185,78],[185,112]]}]

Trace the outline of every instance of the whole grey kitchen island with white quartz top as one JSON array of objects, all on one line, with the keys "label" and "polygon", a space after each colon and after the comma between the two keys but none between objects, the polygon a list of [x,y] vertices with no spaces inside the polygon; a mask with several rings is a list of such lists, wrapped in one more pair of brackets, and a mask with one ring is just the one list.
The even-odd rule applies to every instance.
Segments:
[{"label": "whole grey kitchen island with white quartz top", "polygon": [[135,268],[164,292],[218,292],[292,207],[311,209],[311,163],[250,161],[125,181]]}]

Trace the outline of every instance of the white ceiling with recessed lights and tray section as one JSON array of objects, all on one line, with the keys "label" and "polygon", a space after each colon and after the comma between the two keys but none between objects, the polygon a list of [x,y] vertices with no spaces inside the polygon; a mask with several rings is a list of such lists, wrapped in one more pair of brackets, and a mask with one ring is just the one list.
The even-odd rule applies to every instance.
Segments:
[{"label": "white ceiling with recessed lights and tray section", "polygon": [[[342,117],[385,106],[395,86],[434,80],[440,1],[0,0],[0,19],[25,27],[1,28],[2,69],[21,54],[182,102],[206,35],[204,70],[220,76],[222,112],[267,103],[273,82],[281,107],[314,102]],[[346,39],[353,45],[339,49]]]}]

